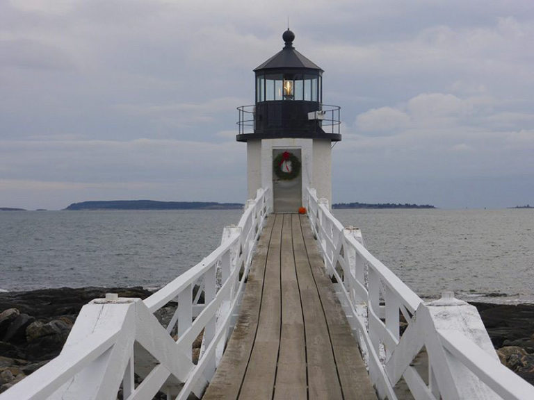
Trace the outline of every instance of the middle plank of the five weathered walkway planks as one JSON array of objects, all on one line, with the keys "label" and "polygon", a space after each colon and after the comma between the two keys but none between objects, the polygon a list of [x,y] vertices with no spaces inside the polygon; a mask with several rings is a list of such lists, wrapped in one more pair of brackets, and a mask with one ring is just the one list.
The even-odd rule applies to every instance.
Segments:
[{"label": "middle plank of the five weathered walkway planks", "polygon": [[291,215],[284,215],[281,251],[282,332],[274,399],[307,399],[304,322],[293,257]]}]

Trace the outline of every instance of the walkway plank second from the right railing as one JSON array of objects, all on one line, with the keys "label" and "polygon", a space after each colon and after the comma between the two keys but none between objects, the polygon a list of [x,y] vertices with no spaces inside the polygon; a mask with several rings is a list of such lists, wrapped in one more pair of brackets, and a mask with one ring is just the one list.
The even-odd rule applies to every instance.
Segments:
[{"label": "walkway plank second from the right railing", "polygon": [[327,322],[309,265],[300,219],[293,216],[293,251],[305,323],[309,399],[342,399]]}]

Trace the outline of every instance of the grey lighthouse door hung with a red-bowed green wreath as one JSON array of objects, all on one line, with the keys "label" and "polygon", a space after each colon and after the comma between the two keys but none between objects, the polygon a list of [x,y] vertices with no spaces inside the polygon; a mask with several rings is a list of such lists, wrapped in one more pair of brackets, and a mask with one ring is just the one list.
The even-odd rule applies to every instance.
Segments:
[{"label": "grey lighthouse door hung with a red-bowed green wreath", "polygon": [[273,205],[275,213],[298,213],[302,206],[300,149],[273,149]]}]

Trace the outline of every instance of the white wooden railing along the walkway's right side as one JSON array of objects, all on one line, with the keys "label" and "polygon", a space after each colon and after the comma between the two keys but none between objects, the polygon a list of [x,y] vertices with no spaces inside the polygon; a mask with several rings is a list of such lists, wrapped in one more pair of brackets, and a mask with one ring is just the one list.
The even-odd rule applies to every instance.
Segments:
[{"label": "white wooden railing along the walkway's right side", "polygon": [[534,399],[534,386],[499,362],[474,306],[451,292],[424,303],[366,250],[357,229],[343,228],[326,199],[314,189],[307,197],[325,268],[380,398],[397,399],[404,382],[416,400]]}]

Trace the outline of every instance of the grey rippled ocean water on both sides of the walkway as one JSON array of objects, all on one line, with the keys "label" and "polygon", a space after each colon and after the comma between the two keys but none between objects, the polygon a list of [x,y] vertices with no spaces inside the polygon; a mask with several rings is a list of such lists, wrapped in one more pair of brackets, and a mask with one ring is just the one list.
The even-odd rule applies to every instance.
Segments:
[{"label": "grey rippled ocean water on both sides of the walkway", "polygon": [[[423,298],[534,302],[533,210],[334,210]],[[0,290],[159,288],[240,210],[0,212]]]}]

